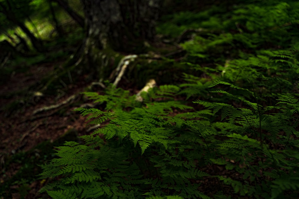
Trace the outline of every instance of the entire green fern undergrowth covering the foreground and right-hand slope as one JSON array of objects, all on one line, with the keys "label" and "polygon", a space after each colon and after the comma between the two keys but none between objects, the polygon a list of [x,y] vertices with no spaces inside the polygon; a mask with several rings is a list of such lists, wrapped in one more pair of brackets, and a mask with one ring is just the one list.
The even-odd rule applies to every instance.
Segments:
[{"label": "entire green fern undergrowth covering the foreground and right-hand slope", "polygon": [[106,125],[81,136],[84,144],[57,147],[42,165],[51,183],[41,191],[59,199],[296,198],[298,2],[257,2],[236,6],[231,18],[194,16],[222,21],[222,33],[182,44],[181,64],[205,78],[184,74],[184,84],[153,88],[143,102],[113,86],[85,93],[106,109],[75,111]]}]

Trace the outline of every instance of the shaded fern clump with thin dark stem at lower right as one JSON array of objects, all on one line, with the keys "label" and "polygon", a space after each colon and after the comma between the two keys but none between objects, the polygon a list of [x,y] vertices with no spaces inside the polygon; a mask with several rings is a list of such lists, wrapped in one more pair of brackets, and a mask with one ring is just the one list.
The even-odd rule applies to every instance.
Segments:
[{"label": "shaded fern clump with thin dark stem at lower right", "polygon": [[[210,87],[217,84],[244,90],[223,81],[216,81]],[[257,98],[254,92],[245,90],[252,95],[253,99]],[[296,119],[298,99],[294,96],[282,95],[278,98],[279,106],[263,107],[223,90],[213,92],[228,95],[248,106],[245,109],[235,108],[225,103],[195,101],[208,109],[213,109],[213,114],[221,111],[221,120],[228,121],[222,123],[221,128],[218,123],[214,124],[215,128],[219,128],[219,135],[224,137],[224,141],[222,139],[213,141],[212,145],[216,146],[219,158],[210,158],[210,161],[224,165],[227,170],[237,172],[243,180],[237,180],[239,177],[233,179],[218,176],[218,178],[225,184],[231,185],[240,195],[253,195],[255,198],[279,198],[283,191],[298,190],[299,184],[296,181],[299,169],[298,119]],[[275,111],[277,109],[278,112]],[[281,176],[286,177],[281,178]]]}]

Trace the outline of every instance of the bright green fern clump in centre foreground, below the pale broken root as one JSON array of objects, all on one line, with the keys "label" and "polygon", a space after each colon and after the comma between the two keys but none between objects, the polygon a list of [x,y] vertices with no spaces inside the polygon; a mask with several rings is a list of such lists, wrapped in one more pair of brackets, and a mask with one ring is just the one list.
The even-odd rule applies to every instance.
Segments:
[{"label": "bright green fern clump in centre foreground, below the pale broken root", "polygon": [[[85,144],[67,142],[65,146],[57,147],[56,155],[59,158],[43,165],[44,172],[41,174],[43,178],[55,178],[57,181],[48,184],[42,191],[47,191],[53,198],[145,198],[167,195],[168,198],[171,198],[170,195],[209,198],[198,191],[200,183],[194,185],[190,181],[209,176],[193,163],[193,157],[202,149],[197,144],[199,140],[189,136],[194,137],[194,133],[198,132],[185,129],[192,124],[184,121],[184,115],[170,116],[175,109],[184,111],[193,108],[179,101],[152,101],[172,97],[173,92],[178,91],[179,87],[176,86],[161,86],[156,92],[150,91],[150,97],[144,96],[143,106],[136,103],[137,107],[129,111],[118,106],[111,110],[106,106],[107,111],[75,109],[83,116],[89,115],[87,119],[93,119],[91,124],[100,124],[107,119],[110,122],[96,129],[92,135],[81,136]],[[123,93],[120,90],[118,96],[110,97],[121,98]],[[87,95],[96,102],[105,99],[96,93]],[[128,98],[130,100],[131,97]],[[199,111],[192,117],[206,118],[209,114],[209,111]],[[194,124],[198,128],[204,127],[208,121]],[[189,136],[185,134],[180,138],[183,132],[189,133]],[[99,134],[105,136],[105,141]],[[189,152],[185,153],[186,150]]]}]

